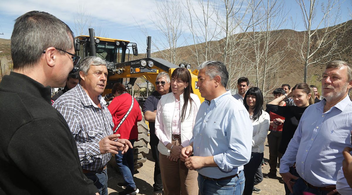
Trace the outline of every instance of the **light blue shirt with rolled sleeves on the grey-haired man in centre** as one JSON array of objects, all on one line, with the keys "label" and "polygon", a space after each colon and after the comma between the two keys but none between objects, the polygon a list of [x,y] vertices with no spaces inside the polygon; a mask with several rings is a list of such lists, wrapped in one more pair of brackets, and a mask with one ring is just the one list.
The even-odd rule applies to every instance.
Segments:
[{"label": "light blue shirt with rolled sleeves on the grey-haired man in centre", "polygon": [[219,167],[197,171],[211,178],[237,174],[251,157],[253,126],[249,113],[228,90],[210,102],[205,100],[193,128],[193,154],[214,156]]}]

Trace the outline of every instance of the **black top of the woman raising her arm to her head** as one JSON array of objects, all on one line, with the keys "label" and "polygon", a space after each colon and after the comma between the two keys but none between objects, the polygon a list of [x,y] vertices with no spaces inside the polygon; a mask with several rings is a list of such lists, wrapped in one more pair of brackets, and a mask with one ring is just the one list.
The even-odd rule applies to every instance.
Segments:
[{"label": "black top of the woman raising her arm to her head", "polygon": [[284,126],[282,128],[282,139],[279,146],[279,152],[281,154],[286,152],[286,148],[295,134],[298,123],[300,122],[302,114],[306,108],[308,108],[308,106],[300,108],[298,106],[266,105],[266,109],[269,111],[285,117]]}]

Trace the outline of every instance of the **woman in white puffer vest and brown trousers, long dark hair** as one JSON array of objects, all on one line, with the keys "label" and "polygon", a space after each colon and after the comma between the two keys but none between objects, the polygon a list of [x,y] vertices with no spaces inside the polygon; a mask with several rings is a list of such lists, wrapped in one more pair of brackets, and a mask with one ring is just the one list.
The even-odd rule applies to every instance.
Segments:
[{"label": "woman in white puffer vest and brown trousers, long dark hair", "polygon": [[159,162],[164,194],[197,195],[196,170],[189,170],[180,158],[189,145],[200,100],[193,94],[191,75],[186,68],[176,68],[171,75],[172,93],[158,102],[155,134],[159,138]]}]

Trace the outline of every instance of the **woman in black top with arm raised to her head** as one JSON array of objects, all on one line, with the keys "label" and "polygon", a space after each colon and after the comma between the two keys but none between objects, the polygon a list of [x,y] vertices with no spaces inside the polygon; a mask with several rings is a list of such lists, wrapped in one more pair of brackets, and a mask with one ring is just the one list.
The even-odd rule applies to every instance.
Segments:
[{"label": "woman in black top with arm raised to her head", "polygon": [[[299,83],[293,87],[288,94],[277,97],[266,105],[266,109],[272,113],[285,117],[282,128],[282,139],[279,146],[279,152],[282,156],[286,152],[287,146],[295,134],[304,110],[314,103],[312,94],[309,85],[306,83]],[[296,106],[278,106],[281,101],[284,101],[289,97],[292,97]],[[290,168],[290,173],[298,176],[294,167]],[[290,194],[290,190],[285,183],[284,186],[286,194]]]}]

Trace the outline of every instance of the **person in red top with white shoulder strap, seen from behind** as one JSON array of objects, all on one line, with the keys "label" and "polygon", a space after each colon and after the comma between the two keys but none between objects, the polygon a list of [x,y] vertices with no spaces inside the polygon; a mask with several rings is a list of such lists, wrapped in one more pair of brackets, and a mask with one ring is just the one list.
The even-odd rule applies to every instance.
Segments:
[{"label": "person in red top with white shoulder strap, seen from behind", "polygon": [[[114,122],[114,134],[120,134],[121,139],[130,140],[133,146],[134,141],[138,139],[137,122],[142,120],[139,104],[127,93],[122,83],[115,83],[111,91],[115,97],[108,109]],[[133,181],[133,148],[128,149],[124,154],[119,152],[115,155],[115,160],[125,180],[123,183],[118,183],[118,186],[124,188],[126,194],[137,194],[139,189]]]}]

